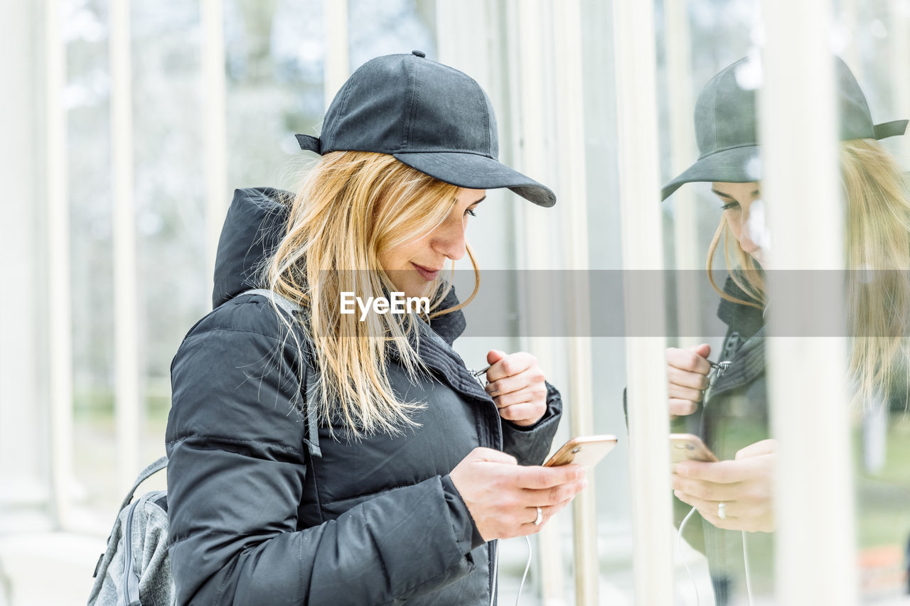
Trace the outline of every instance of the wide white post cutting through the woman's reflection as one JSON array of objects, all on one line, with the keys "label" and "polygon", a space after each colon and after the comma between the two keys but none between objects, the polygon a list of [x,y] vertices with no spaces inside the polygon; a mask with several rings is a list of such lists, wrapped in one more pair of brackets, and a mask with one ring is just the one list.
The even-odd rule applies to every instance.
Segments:
[{"label": "wide white post cutting through the woman's reflection", "polygon": [[773,234],[768,378],[777,440],[776,598],[784,604],[857,603],[846,339],[779,328],[792,325],[784,317],[800,309],[844,317],[843,297],[820,295],[810,280],[797,284],[781,271],[844,267],[830,10],[826,0],[763,5],[768,44],[759,107],[770,118],[760,132],[762,193]]}]

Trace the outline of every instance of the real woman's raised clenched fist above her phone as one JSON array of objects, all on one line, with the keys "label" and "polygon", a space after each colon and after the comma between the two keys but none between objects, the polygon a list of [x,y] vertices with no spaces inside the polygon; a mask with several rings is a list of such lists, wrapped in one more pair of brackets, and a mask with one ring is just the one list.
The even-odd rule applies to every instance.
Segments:
[{"label": "real woman's raised clenched fist above her phone", "polygon": [[500,416],[527,427],[547,412],[547,385],[537,359],[519,351],[506,354],[491,349],[487,354],[487,393],[500,409]]}]

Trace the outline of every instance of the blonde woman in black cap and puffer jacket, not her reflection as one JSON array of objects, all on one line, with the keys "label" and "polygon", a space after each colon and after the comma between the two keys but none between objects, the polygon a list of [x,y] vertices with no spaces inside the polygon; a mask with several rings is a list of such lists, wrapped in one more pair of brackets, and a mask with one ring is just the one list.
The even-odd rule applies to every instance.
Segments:
[{"label": "blonde woman in black cap and puffer jacket, not her reflection", "polygon": [[[495,125],[468,76],[378,57],[298,136],[322,157],[296,195],[238,190],[215,309],[172,366],[180,603],[487,604],[489,541],[585,486],[536,467],[561,415],[536,360],[490,351],[484,390],[451,348],[463,304],[440,271],[485,190],[555,202],[496,160]],[[429,313],[341,313],[393,292]]]}]

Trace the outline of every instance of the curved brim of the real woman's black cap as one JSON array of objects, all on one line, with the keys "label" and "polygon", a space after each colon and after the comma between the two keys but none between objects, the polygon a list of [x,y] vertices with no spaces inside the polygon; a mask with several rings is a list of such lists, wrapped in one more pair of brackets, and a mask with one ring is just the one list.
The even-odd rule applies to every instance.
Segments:
[{"label": "curved brim of the real woman's black cap", "polygon": [[549,187],[491,157],[463,152],[410,152],[392,156],[421,173],[454,186],[469,189],[508,187],[541,207],[556,204],[556,195]]}]

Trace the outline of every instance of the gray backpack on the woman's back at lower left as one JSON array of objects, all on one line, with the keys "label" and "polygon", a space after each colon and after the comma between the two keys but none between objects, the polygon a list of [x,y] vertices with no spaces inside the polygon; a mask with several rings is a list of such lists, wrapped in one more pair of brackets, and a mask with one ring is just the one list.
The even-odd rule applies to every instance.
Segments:
[{"label": "gray backpack on the woman's back at lower left", "polygon": [[143,481],[167,467],[167,457],[149,465],[126,495],[95,567],[88,606],[173,606],[177,603],[167,557],[167,492],[133,494]]}]

